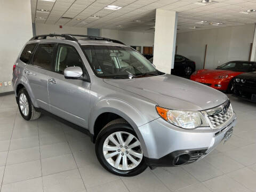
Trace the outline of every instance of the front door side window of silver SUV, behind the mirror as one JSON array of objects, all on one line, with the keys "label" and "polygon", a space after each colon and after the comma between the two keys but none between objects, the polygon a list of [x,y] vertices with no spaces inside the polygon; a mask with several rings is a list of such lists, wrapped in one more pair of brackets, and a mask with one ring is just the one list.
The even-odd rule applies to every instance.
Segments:
[{"label": "front door side window of silver SUV, behind the mirror", "polygon": [[81,67],[83,62],[76,49],[68,45],[59,45],[54,70],[63,74],[67,67]]}]

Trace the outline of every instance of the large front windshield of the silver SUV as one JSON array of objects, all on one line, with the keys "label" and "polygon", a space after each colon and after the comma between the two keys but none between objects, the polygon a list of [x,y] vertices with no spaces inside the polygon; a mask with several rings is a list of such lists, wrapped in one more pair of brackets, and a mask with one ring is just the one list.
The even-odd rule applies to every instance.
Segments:
[{"label": "large front windshield of the silver SUV", "polygon": [[98,77],[134,78],[159,75],[147,59],[129,47],[106,45],[84,45],[82,47]]}]

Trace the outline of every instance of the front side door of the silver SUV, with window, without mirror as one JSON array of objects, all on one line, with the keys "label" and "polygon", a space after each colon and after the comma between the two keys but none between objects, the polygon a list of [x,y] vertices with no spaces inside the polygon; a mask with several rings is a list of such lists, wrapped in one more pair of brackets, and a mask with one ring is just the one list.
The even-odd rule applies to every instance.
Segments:
[{"label": "front side door of the silver SUV, with window, without mirror", "polygon": [[88,127],[90,113],[91,83],[81,79],[66,79],[64,70],[67,67],[86,69],[75,47],[59,44],[53,71],[49,72],[49,100],[51,113],[75,123]]}]

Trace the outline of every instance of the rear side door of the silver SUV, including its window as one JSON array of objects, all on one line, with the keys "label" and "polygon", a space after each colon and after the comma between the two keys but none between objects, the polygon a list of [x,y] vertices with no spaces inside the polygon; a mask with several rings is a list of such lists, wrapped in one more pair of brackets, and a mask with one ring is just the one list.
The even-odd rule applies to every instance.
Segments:
[{"label": "rear side door of the silver SUV, including its window", "polygon": [[33,61],[27,65],[24,71],[38,106],[47,111],[50,110],[47,90],[48,72],[52,70],[54,52],[54,43],[39,44]]}]

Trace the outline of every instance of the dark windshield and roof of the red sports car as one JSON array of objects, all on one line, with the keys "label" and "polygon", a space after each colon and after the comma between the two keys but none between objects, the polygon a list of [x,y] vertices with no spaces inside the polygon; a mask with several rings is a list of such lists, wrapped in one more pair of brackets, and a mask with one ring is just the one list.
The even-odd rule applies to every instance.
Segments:
[{"label": "dark windshield and roof of the red sports car", "polygon": [[217,69],[250,72],[256,70],[256,65],[245,61],[231,61],[219,66]]}]

